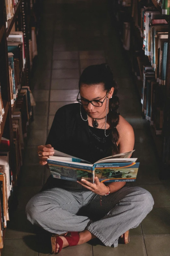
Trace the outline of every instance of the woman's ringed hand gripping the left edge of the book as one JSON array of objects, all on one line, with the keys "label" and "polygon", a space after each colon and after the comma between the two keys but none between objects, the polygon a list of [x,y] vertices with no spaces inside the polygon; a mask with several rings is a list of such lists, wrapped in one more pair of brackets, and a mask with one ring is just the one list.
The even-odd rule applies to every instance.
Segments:
[{"label": "woman's ringed hand gripping the left edge of the book", "polygon": [[48,144],[48,145],[40,145],[38,146],[38,154],[42,155],[39,156],[39,164],[41,165],[45,165],[47,164],[47,158],[49,158],[49,156],[53,156],[54,154],[54,148]]}]

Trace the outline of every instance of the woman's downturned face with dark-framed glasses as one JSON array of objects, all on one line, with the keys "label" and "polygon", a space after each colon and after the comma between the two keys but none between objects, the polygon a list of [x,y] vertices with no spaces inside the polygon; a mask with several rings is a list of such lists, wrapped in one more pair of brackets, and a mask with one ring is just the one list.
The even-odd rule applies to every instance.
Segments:
[{"label": "woman's downturned face with dark-framed glasses", "polygon": [[[109,104],[109,98],[112,96],[113,91],[114,91],[114,88],[112,87],[108,93],[108,104]],[[80,94],[78,98],[87,99],[87,100],[104,101],[106,97],[106,93],[107,91],[104,89],[103,84],[95,84],[95,85],[82,84],[80,86]],[[102,107],[95,107],[91,103],[89,103],[87,106],[83,105],[83,108],[88,113],[88,115],[93,119],[101,118],[106,115],[106,102],[107,102],[107,98],[105,99]]]}]

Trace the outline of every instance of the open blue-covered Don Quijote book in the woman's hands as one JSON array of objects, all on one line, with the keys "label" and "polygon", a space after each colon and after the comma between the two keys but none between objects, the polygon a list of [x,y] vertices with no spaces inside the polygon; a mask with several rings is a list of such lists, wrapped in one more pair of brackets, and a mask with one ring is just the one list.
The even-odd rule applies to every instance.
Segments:
[{"label": "open blue-covered Don Quijote book in the woman's hands", "polygon": [[53,178],[77,181],[81,178],[94,183],[135,181],[139,163],[137,158],[128,158],[135,150],[103,158],[94,164],[54,150],[54,156],[47,159]]}]

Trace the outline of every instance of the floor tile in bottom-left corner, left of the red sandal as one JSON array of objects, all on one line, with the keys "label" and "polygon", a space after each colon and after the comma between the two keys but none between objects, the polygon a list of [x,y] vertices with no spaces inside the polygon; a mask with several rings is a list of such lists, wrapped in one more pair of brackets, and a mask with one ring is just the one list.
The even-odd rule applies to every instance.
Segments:
[{"label": "floor tile in bottom-left corner, left of the red sandal", "polygon": [[[34,236],[29,241],[34,244]],[[22,239],[5,239],[2,256],[38,256],[38,252],[26,245]]]}]

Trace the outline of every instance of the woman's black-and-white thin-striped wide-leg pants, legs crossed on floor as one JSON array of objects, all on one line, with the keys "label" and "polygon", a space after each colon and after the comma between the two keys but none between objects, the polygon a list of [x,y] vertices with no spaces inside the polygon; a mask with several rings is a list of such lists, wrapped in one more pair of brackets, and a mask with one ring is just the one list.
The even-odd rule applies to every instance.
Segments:
[{"label": "woman's black-and-white thin-striped wide-leg pants, legs crossed on floor", "polygon": [[43,229],[63,234],[89,230],[106,246],[117,247],[119,236],[136,228],[153,208],[151,194],[141,187],[124,186],[100,196],[82,188],[53,187],[33,196],[26,206],[27,219]]}]

